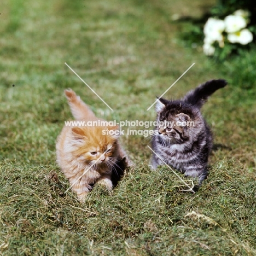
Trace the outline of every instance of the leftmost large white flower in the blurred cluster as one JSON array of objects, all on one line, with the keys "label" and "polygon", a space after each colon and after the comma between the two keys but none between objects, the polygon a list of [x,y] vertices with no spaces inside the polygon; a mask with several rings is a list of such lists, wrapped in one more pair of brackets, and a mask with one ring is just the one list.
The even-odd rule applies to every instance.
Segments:
[{"label": "leftmost large white flower in the blurred cluster", "polygon": [[224,31],[225,25],[223,20],[209,18],[203,27],[203,32],[207,40],[210,42],[223,40],[222,32]]}]

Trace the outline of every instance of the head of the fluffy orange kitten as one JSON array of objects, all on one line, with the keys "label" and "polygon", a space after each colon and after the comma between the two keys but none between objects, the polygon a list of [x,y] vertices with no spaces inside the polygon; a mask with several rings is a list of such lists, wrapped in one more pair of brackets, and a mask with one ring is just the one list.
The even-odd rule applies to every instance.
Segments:
[{"label": "head of the fluffy orange kitten", "polygon": [[[114,127],[116,129],[117,127]],[[108,128],[114,130],[113,127]],[[102,127],[73,127],[73,139],[77,146],[75,157],[95,166],[103,166],[113,162],[117,137],[102,135]]]}]

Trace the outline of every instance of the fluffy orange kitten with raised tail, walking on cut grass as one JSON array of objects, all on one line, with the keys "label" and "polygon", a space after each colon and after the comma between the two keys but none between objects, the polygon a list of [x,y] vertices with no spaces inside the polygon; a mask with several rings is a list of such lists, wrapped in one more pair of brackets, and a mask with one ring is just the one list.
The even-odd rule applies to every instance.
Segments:
[{"label": "fluffy orange kitten with raised tail, walking on cut grass", "polygon": [[[76,120],[99,120],[80,97],[71,89],[65,90],[71,112]],[[56,157],[61,171],[68,178],[78,199],[85,196],[98,181],[110,190],[112,172],[116,162],[126,155],[121,148],[118,136],[103,135],[103,130],[118,130],[118,126],[64,126],[57,138]],[[79,178],[82,176],[81,178]]]}]

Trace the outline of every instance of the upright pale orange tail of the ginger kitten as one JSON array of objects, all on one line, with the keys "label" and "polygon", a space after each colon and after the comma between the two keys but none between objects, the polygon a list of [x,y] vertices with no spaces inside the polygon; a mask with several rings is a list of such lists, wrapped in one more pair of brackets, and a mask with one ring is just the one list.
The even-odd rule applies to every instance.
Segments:
[{"label": "upright pale orange tail of the ginger kitten", "polygon": [[94,113],[91,109],[80,99],[79,96],[71,89],[65,90],[66,98],[68,99],[69,107],[73,117],[76,120],[93,119]]}]

